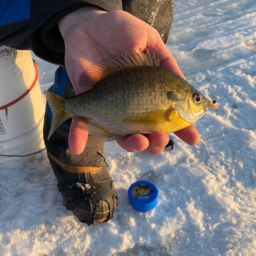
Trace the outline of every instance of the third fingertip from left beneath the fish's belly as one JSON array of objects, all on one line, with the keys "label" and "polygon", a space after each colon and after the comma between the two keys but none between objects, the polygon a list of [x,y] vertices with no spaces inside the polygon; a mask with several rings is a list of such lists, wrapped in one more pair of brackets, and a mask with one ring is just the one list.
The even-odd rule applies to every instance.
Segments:
[{"label": "third fingertip from left beneath the fish's belly", "polygon": [[169,142],[169,136],[164,132],[154,132],[147,136],[149,141],[149,146],[146,149],[150,154],[161,153],[167,143]]}]

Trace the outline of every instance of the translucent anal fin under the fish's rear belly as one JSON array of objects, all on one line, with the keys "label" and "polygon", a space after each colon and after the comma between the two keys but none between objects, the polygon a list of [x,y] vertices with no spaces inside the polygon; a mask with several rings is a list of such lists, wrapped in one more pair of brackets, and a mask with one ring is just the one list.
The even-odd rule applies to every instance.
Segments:
[{"label": "translucent anal fin under the fish's rear belly", "polygon": [[88,131],[88,134],[91,136],[96,136],[99,138],[107,138],[108,141],[116,140],[120,138],[122,135],[120,134],[112,134],[105,130],[104,128],[100,127],[98,124],[95,124],[93,120],[87,118],[80,118],[76,122],[76,126],[78,128],[82,128]]}]

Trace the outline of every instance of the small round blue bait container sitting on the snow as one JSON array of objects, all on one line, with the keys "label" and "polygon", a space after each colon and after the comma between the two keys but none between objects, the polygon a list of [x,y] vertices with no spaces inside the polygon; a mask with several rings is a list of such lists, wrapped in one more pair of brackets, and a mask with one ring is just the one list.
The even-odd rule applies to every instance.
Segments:
[{"label": "small round blue bait container sitting on the snow", "polygon": [[156,207],[158,189],[155,184],[147,180],[138,180],[128,189],[131,206],[139,212],[147,212]]}]

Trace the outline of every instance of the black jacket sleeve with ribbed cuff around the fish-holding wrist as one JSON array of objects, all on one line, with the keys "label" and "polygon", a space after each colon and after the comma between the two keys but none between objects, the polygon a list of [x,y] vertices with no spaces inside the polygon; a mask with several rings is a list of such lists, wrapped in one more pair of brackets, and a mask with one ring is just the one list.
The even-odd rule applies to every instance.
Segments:
[{"label": "black jacket sleeve with ribbed cuff around the fish-holding wrist", "polygon": [[64,40],[57,26],[67,14],[83,6],[122,10],[122,0],[31,0],[30,45],[40,58],[64,66]]}]

